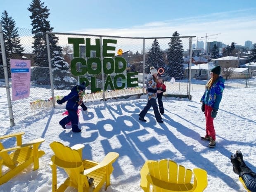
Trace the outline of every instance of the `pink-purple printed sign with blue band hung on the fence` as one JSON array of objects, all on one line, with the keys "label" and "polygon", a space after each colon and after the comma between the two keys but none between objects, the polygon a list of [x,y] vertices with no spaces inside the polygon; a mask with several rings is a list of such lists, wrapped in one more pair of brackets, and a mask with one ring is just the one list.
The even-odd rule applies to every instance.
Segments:
[{"label": "pink-purple printed sign with blue band hung on the fence", "polygon": [[30,60],[10,59],[12,74],[12,100],[29,97]]}]

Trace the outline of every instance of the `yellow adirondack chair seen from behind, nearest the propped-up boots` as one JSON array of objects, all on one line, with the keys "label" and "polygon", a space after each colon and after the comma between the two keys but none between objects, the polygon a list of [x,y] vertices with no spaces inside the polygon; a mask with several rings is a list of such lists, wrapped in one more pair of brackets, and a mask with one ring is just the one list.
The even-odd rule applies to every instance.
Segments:
[{"label": "yellow adirondack chair seen from behind, nearest the propped-up boots", "polygon": [[[191,183],[194,175],[194,183]],[[148,160],[140,171],[140,187],[149,192],[202,192],[207,187],[207,173],[203,169],[186,169],[174,161],[162,159]]]}]

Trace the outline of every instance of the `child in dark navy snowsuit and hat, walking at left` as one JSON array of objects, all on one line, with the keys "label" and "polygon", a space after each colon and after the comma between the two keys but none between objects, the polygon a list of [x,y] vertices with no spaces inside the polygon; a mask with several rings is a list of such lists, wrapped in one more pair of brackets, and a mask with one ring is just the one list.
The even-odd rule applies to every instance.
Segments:
[{"label": "child in dark navy snowsuit and hat, walking at left", "polygon": [[69,115],[59,121],[62,128],[65,129],[65,125],[71,121],[72,131],[76,133],[81,132],[81,129],[78,128],[78,116],[76,111],[79,105],[83,108],[83,111],[87,110],[87,107],[83,104],[84,91],[85,82],[81,83],[81,85],[74,86],[69,95],[63,97],[62,100],[56,101],[58,104],[68,101],[66,104],[66,110],[69,112]]}]

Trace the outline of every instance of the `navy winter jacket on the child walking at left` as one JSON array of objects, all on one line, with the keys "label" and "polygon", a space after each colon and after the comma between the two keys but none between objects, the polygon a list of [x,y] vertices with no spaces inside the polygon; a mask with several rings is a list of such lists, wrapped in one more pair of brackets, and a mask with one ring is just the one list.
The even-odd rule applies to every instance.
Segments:
[{"label": "navy winter jacket on the child walking at left", "polygon": [[79,105],[81,105],[83,109],[85,108],[85,104],[83,104],[83,101],[80,100],[78,92],[78,85],[76,85],[71,89],[69,95],[62,98],[62,103],[68,101],[66,104],[66,110],[77,110]]}]

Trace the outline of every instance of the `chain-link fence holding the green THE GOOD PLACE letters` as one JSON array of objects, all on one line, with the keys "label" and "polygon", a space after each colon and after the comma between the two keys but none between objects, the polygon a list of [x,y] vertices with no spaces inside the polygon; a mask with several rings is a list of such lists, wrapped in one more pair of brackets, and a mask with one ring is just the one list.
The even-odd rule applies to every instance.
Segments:
[{"label": "chain-link fence holding the green THE GOOD PLACE letters", "polygon": [[[45,44],[41,43],[44,50],[38,53],[34,50],[35,39],[31,30],[18,28],[18,31],[24,52],[7,57],[10,94],[12,95],[12,79],[9,59],[31,61],[31,85],[30,97],[22,101],[12,101],[16,123],[35,116],[42,109],[51,109],[47,108],[44,102],[51,102],[53,95],[55,97],[67,95],[80,81],[87,83],[85,100],[142,93],[142,87],[145,86],[143,83],[146,82],[139,81],[140,78],[137,82],[128,82],[128,78],[138,77],[137,73],[147,77],[151,66],[160,69],[159,73],[164,79],[168,92],[189,94],[189,79],[184,76],[184,71],[189,62],[192,37],[130,38],[50,32],[47,33],[48,44],[46,45],[45,37]],[[55,44],[56,38],[58,38],[57,44]],[[175,46],[179,48],[179,52],[175,52]],[[121,50],[122,55],[118,55],[117,50]],[[183,58],[187,60],[184,61]],[[104,69],[101,70],[99,66],[102,60],[104,60]],[[3,68],[0,67],[0,70]],[[175,83],[170,82],[172,77],[175,78]],[[0,76],[0,79],[4,77]],[[4,83],[1,85],[4,86]],[[105,92],[104,95],[102,90]],[[33,107],[35,105],[42,108]]]}]

